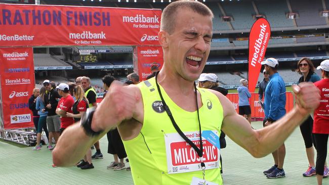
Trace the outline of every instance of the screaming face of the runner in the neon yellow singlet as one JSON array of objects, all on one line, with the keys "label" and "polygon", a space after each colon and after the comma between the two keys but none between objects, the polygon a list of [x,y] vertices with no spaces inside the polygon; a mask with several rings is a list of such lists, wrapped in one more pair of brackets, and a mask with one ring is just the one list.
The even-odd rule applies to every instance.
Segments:
[{"label": "screaming face of the runner in the neon yellow singlet", "polygon": [[[167,45],[162,45],[168,68],[188,81],[201,74],[210,52],[212,18],[189,9],[177,12],[175,30],[167,35]],[[174,24],[174,23],[173,23]]]}]

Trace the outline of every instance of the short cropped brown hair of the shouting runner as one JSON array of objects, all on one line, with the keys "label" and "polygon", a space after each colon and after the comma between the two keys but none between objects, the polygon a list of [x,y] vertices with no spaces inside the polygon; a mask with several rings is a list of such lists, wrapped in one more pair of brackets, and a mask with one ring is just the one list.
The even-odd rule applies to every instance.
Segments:
[{"label": "short cropped brown hair of the shouting runner", "polygon": [[172,34],[175,31],[177,12],[181,9],[190,9],[199,15],[210,16],[211,18],[214,18],[213,12],[207,6],[200,2],[176,1],[169,4],[165,9],[163,9],[161,15],[161,31],[166,31],[169,34]]}]

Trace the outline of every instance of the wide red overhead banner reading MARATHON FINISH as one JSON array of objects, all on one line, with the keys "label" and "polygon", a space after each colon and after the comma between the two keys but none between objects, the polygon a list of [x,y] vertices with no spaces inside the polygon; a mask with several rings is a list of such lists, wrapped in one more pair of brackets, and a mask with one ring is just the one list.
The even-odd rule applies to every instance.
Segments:
[{"label": "wide red overhead banner reading MARATHON FINISH", "polygon": [[0,45],[158,45],[160,18],[160,9],[0,4]]}]

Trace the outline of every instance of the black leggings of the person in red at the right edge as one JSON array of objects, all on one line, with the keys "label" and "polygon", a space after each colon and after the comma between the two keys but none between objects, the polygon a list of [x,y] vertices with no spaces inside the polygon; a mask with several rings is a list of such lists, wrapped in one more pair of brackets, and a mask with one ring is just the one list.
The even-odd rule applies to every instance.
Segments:
[{"label": "black leggings of the person in red at the right edge", "polygon": [[315,136],[316,143],[316,174],[323,175],[324,162],[327,153],[328,135],[321,133],[313,133]]}]

